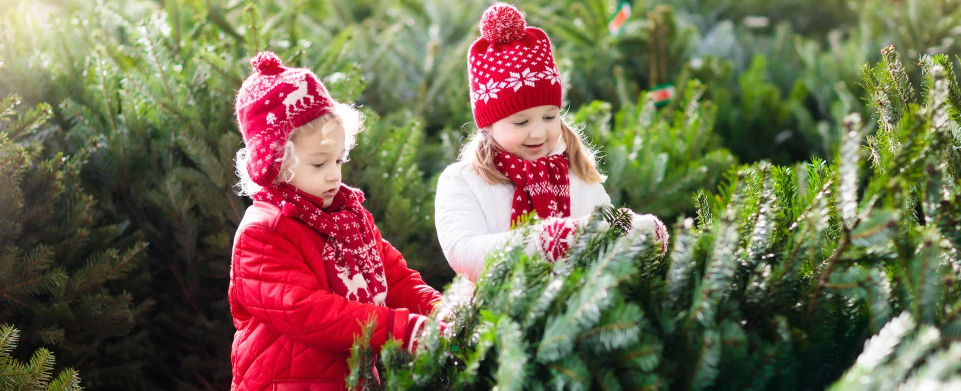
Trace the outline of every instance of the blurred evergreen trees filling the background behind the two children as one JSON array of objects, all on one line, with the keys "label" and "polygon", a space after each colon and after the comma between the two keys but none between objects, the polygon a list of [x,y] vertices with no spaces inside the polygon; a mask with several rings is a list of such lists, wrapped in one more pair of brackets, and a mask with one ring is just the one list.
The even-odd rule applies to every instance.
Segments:
[{"label": "blurred evergreen trees filling the background behind the two children", "polygon": [[[234,194],[233,103],[260,50],[361,107],[345,182],[444,287],[434,184],[473,130],[465,56],[490,4],[0,0],[0,323],[21,330],[18,352],[49,348],[91,390],[227,389],[230,249],[250,203]],[[920,55],[961,53],[954,0],[628,4],[615,33],[618,1],[516,3],[552,38],[566,117],[603,151],[614,203],[669,224],[739,163],[830,163],[844,116],[871,117],[859,69],[883,47],[916,83]],[[674,99],[638,115],[663,85]]]}]

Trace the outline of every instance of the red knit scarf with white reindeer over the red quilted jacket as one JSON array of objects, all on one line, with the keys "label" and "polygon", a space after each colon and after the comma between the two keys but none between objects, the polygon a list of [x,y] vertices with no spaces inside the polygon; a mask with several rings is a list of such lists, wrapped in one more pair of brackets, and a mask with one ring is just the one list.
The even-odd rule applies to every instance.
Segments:
[{"label": "red knit scarf with white reindeer over the red quilted jacket", "polygon": [[289,183],[264,187],[252,198],[280,207],[283,214],[327,237],[321,252],[334,293],[360,303],[384,305],[387,279],[375,229],[360,205],[364,200],[360,190],[341,185],[328,208],[322,208],[320,197]]}]

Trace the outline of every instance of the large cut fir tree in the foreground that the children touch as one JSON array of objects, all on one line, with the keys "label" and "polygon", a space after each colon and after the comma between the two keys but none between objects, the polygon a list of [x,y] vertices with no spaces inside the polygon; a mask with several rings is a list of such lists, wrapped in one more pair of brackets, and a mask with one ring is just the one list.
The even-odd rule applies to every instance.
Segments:
[{"label": "large cut fir tree in the foreground that the children touch", "polygon": [[[873,127],[850,115],[834,163],[729,171],[717,192],[697,193],[697,218],[677,225],[668,257],[604,230],[620,217],[600,211],[557,263],[508,245],[472,299],[446,296],[450,337],[429,325],[414,355],[383,347],[380,386],[351,379],[385,390],[823,390],[855,365],[835,385],[850,389],[877,362],[902,375],[876,379],[884,387],[957,381],[957,80],[947,57],[925,56],[914,98],[897,53],[883,56],[863,68],[878,129],[865,139]],[[889,330],[917,337],[879,360],[870,354],[886,343],[873,340],[857,358]]]}]

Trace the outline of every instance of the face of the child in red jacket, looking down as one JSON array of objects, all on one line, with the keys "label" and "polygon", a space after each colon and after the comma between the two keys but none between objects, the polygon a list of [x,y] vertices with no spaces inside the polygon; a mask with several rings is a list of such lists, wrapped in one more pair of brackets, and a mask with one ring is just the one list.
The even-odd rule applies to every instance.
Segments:
[{"label": "face of the child in red jacket, looking down", "polygon": [[323,208],[331,206],[340,189],[340,167],[344,163],[344,127],[330,120],[320,131],[298,134],[294,151],[300,160],[292,168],[290,184],[312,196],[324,199]]}]

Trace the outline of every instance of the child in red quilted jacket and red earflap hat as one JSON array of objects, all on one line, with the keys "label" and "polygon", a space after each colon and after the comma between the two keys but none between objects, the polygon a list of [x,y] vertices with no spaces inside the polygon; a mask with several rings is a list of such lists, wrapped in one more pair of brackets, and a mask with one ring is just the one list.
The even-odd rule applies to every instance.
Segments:
[{"label": "child in red quilted jacket and red earflap hat", "polygon": [[254,205],[234,237],[231,389],[343,390],[363,323],[376,324],[372,346],[396,338],[412,352],[440,294],[341,183],[357,110],[273,53],[251,63],[236,98],[240,193]]}]

